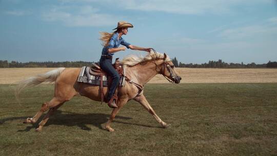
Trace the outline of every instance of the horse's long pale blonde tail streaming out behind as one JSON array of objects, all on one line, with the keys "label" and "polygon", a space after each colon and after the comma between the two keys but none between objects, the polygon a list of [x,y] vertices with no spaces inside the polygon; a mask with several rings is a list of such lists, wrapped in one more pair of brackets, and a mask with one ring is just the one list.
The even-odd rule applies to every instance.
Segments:
[{"label": "horse's long pale blonde tail streaming out behind", "polygon": [[65,70],[65,68],[57,68],[57,69],[48,71],[47,73],[38,74],[36,76],[29,77],[28,79],[19,82],[15,89],[16,100],[19,102],[19,100],[18,100],[19,94],[23,89],[25,89],[27,87],[39,85],[43,82],[48,82],[48,83],[55,82],[58,75],[60,75],[62,73],[62,71],[64,71],[64,70]]}]

